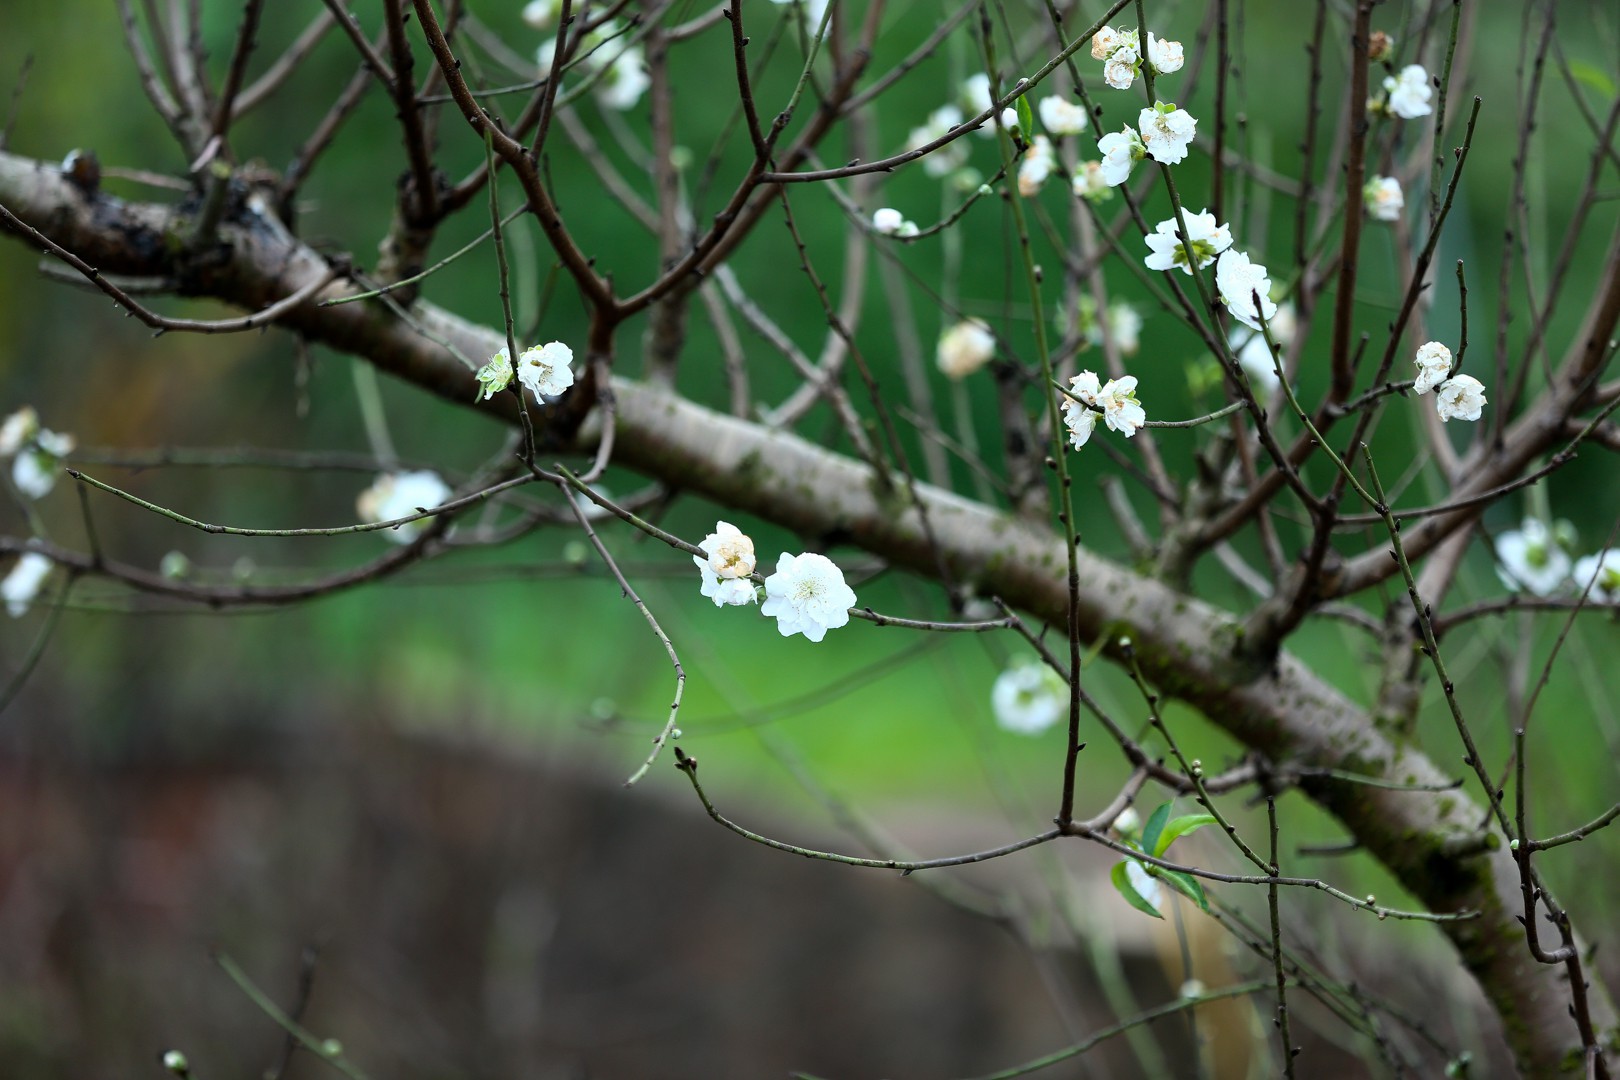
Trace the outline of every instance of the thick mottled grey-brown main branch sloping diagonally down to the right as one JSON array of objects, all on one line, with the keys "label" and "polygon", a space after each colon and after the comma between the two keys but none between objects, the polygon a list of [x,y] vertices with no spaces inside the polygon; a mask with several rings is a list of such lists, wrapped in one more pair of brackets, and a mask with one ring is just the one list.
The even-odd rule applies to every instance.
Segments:
[{"label": "thick mottled grey-brown main branch sloping diagonally down to the right", "polygon": [[[81,191],[55,165],[0,154],[0,202],[102,272],[167,277],[188,293],[249,311],[327,270],[327,262],[267,209],[254,212],[251,199],[222,227],[220,249],[185,266],[177,264],[181,246],[172,243],[188,235],[180,210]],[[339,282],[322,295],[347,291],[352,288]],[[433,304],[418,303],[413,316],[468,356],[488,356],[501,345],[494,329]],[[473,403],[471,371],[377,304],[319,308],[313,300],[288,313],[282,325],[363,356],[447,402]],[[616,377],[612,390],[617,463],[792,528],[818,546],[852,544],[917,575],[938,575],[941,560],[928,546],[919,508],[886,499],[867,465],[635,381]],[[925,484],[919,484],[919,495],[954,578],[1064,623],[1061,538]],[[1244,667],[1236,659],[1241,630],[1233,615],[1084,547],[1079,567],[1082,635],[1105,636],[1105,654],[1116,651],[1121,635],[1129,636],[1144,674],[1168,696],[1197,708],[1280,771],[1338,769],[1414,785],[1450,779],[1424,755],[1387,737],[1367,711],[1294,656],[1281,653],[1268,670]],[[1430,910],[1479,912],[1442,926],[1500,1014],[1521,1070],[1550,1077],[1578,1064],[1563,968],[1536,963],[1524,947],[1516,868],[1505,847],[1481,850],[1473,842],[1484,819],[1479,803],[1463,792],[1392,792],[1335,780],[1301,787]],[[1615,1009],[1604,988],[1592,988],[1591,1007],[1596,1027],[1612,1043]]]}]

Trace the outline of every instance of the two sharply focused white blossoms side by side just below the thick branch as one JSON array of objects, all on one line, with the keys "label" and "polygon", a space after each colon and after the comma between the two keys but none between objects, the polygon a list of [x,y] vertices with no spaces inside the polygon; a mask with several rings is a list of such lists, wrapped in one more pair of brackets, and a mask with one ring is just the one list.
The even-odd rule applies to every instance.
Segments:
[{"label": "two sharply focused white blossoms side by side just below the thick branch", "polygon": [[[693,555],[703,578],[700,593],[716,607],[753,604],[753,539],[729,521],[716,521],[714,531],[698,544],[705,557]],[[776,559],[776,573],[765,578],[765,604],[760,612],[776,620],[784,638],[802,633],[820,641],[828,630],[849,622],[855,591],[844,583],[844,573],[826,555],[804,552]]]}]

